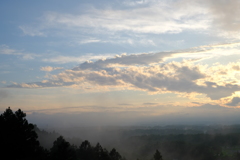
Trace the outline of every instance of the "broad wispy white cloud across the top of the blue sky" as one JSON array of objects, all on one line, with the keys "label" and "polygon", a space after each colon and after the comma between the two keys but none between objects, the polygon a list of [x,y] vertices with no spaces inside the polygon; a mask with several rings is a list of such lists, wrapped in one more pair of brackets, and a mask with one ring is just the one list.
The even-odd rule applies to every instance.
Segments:
[{"label": "broad wispy white cloud across the top of the blue sky", "polygon": [[[148,44],[152,46],[159,40],[154,39],[153,34],[182,32],[239,39],[239,5],[239,0],[125,0],[117,7],[88,4],[90,7],[75,14],[45,12],[37,18],[39,21],[19,28],[29,36],[77,37],[81,39],[80,44],[133,44],[144,35],[152,41]],[[119,37],[125,40],[117,39]]]}]

